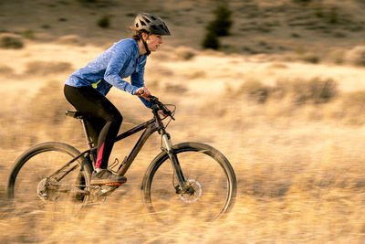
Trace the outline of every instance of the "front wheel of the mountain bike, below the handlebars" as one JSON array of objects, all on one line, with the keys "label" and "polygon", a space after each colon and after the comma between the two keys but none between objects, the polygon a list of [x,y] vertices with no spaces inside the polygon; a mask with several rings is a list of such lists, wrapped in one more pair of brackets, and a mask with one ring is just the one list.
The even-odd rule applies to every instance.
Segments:
[{"label": "front wheel of the mountain bike, below the handlebars", "polygon": [[235,172],[224,154],[203,143],[180,143],[173,152],[181,166],[182,190],[166,152],[150,164],[142,182],[144,205],[163,222],[223,217],[235,203]]}]

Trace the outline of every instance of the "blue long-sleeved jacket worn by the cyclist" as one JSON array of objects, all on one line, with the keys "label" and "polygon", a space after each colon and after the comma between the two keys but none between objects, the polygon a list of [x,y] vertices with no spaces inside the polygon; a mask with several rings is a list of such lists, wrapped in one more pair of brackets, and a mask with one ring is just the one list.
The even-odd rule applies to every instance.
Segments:
[{"label": "blue long-sleeved jacket worn by the cyclist", "polygon": [[[66,84],[72,87],[91,86],[104,96],[112,86],[135,95],[136,90],[144,86],[144,66],[147,56],[140,56],[137,41],[131,38],[121,39],[104,51],[98,58],[72,73]],[[130,77],[130,83],[124,78]],[[151,103],[141,98],[151,108]]]}]

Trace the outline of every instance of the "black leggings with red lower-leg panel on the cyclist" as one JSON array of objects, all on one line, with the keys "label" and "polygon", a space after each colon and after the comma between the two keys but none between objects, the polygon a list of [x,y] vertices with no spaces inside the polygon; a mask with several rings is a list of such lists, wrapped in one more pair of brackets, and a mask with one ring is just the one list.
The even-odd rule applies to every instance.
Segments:
[{"label": "black leggings with red lower-leg panel on the cyclist", "polygon": [[64,92],[69,103],[87,117],[90,137],[93,143],[98,142],[96,168],[107,168],[114,140],[123,121],[120,111],[92,87],[65,85]]}]

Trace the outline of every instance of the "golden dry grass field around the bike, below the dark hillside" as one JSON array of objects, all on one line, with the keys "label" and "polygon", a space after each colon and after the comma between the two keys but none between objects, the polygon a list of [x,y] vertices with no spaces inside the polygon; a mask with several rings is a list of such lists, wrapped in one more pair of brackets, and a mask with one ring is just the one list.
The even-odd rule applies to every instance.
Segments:
[{"label": "golden dry grass field around the bike, below the dark hillside", "polygon": [[[55,48],[61,46],[44,45],[43,52],[52,54]],[[23,70],[35,55],[32,50],[37,48],[25,50],[28,57]],[[74,51],[78,58],[70,65],[80,67],[85,64],[84,59],[96,55],[99,48],[81,47]],[[0,242],[364,241],[363,91],[361,87],[354,89],[361,80],[350,80],[350,76],[346,79],[352,83],[346,83],[348,80],[338,79],[339,73],[335,73],[335,69],[325,66],[288,62],[277,66],[269,61],[239,56],[222,57],[214,53],[194,53],[186,61],[176,58],[174,53],[162,54],[167,57],[166,60],[156,57],[152,62],[151,57],[146,72],[154,82],[153,93],[162,101],[178,106],[177,120],[168,127],[172,142],[209,143],[227,156],[238,180],[235,207],[230,215],[208,223],[185,218],[169,226],[151,217],[142,206],[140,186],[145,169],[160,151],[157,135],[151,137],[131,165],[127,173],[129,182],[106,202],[88,207],[82,215],[76,217],[52,207],[30,212],[26,205],[9,209],[5,205],[6,177],[16,156],[28,146],[44,141],[61,141],[80,150],[85,148],[78,122],[63,115],[65,110],[71,109],[62,94],[62,79],[68,73],[55,74],[59,80],[54,79],[52,74],[46,74],[38,78],[34,90],[26,90],[24,86],[14,86],[8,90],[4,97],[7,106],[0,111],[0,124],[5,128],[0,132]],[[218,65],[223,62],[224,65]],[[153,72],[157,65],[168,75]],[[0,66],[17,70],[10,64],[2,63]],[[192,67],[197,78],[189,78]],[[258,71],[247,75],[255,70]],[[350,67],[342,67],[339,71],[345,75],[363,72],[362,69]],[[325,74],[324,80],[333,78],[338,83],[339,94],[333,101],[321,104],[297,104],[286,97],[268,97],[265,102],[257,102],[246,96],[235,96],[246,80],[259,80],[273,87],[288,72],[292,72],[290,78],[293,80],[303,77],[303,72],[308,73],[308,79],[304,80],[318,77],[317,72],[321,72]],[[12,78],[12,82],[24,82],[16,80],[22,77],[22,73],[18,75]],[[150,80],[146,82],[149,84]],[[167,84],[178,89],[166,90]],[[8,88],[4,83],[0,85]],[[20,103],[17,99],[19,92],[23,92]],[[123,131],[151,117],[140,101],[129,94],[112,90],[109,98],[125,118]],[[9,106],[15,109],[11,110]],[[111,159],[122,159],[136,139],[133,137],[116,145]],[[175,213],[174,208],[169,211]]]}]

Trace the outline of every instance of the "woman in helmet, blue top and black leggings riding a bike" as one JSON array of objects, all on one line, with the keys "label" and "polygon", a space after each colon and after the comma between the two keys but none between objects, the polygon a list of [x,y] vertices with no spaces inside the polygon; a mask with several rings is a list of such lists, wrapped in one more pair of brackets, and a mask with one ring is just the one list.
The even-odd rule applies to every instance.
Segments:
[{"label": "woman in helmet, blue top and black leggings riding a bike", "polygon": [[[151,107],[144,87],[144,66],[147,56],[162,44],[162,36],[171,36],[169,29],[158,16],[139,14],[131,27],[132,38],[121,39],[82,69],[71,74],[65,83],[67,100],[88,119],[91,139],[98,144],[95,171],[91,185],[121,184],[124,176],[112,174],[108,168],[110,152],[119,133],[122,116],[105,97],[112,86],[140,96]],[[130,77],[130,83],[124,78]]]}]

